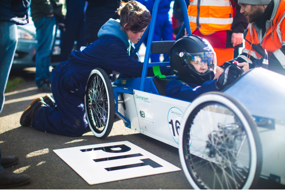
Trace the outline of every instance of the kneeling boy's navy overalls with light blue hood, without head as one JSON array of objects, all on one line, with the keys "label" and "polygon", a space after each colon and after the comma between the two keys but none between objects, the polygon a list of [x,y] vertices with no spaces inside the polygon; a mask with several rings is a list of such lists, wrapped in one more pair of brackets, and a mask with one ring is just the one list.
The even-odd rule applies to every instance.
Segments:
[{"label": "kneeling boy's navy overalls with light blue hood, without head", "polygon": [[[53,69],[51,90],[55,106],[39,109],[32,127],[48,133],[81,136],[87,130],[83,106],[89,74],[96,67],[107,73],[117,71],[130,77],[140,77],[143,63],[129,56],[130,43],[117,20],[110,19],[99,30],[99,39],[81,51],[72,51],[67,61]],[[164,75],[170,68],[161,67]],[[149,68],[148,75],[154,75]]]}]

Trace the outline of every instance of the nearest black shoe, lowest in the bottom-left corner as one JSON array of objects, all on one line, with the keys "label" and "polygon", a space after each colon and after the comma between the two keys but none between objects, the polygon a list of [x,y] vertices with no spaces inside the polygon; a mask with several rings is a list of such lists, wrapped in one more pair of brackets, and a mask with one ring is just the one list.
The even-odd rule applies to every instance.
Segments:
[{"label": "nearest black shoe, lowest in the bottom-left corner", "polygon": [[21,186],[31,181],[30,175],[15,174],[8,170],[0,171],[0,188]]}]

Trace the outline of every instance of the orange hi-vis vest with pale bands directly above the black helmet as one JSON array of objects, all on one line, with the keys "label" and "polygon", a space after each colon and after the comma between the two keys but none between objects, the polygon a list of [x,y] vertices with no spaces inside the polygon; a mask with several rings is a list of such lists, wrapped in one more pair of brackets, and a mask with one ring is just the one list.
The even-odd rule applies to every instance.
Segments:
[{"label": "orange hi-vis vest with pale bands directly above the black helmet", "polygon": [[234,8],[231,0],[189,0],[188,16],[191,31],[199,29],[203,35],[231,30]]}]

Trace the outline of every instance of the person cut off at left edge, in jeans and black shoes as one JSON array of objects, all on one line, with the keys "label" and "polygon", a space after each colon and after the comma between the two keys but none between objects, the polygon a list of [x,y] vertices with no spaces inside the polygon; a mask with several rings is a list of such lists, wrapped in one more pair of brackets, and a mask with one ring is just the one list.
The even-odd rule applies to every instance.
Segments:
[{"label": "person cut off at left edge, in jeans and black shoes", "polygon": [[[4,105],[4,92],[18,43],[16,24],[29,23],[27,15],[29,7],[30,0],[0,1],[0,113]],[[15,155],[2,156],[0,149],[0,188],[20,186],[31,181],[29,175],[16,174],[4,169],[14,166],[18,162],[19,159]]]}]

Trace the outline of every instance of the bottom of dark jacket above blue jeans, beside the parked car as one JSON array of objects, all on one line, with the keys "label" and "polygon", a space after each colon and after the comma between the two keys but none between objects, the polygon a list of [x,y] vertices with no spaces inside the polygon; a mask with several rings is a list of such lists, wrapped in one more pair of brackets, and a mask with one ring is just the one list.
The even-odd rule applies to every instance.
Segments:
[{"label": "bottom of dark jacket above blue jeans, beside the parked car", "polygon": [[[79,1],[79,0],[78,0]],[[66,16],[65,0],[33,0],[31,2],[31,16],[34,22],[47,15],[54,14],[60,19]]]}]

